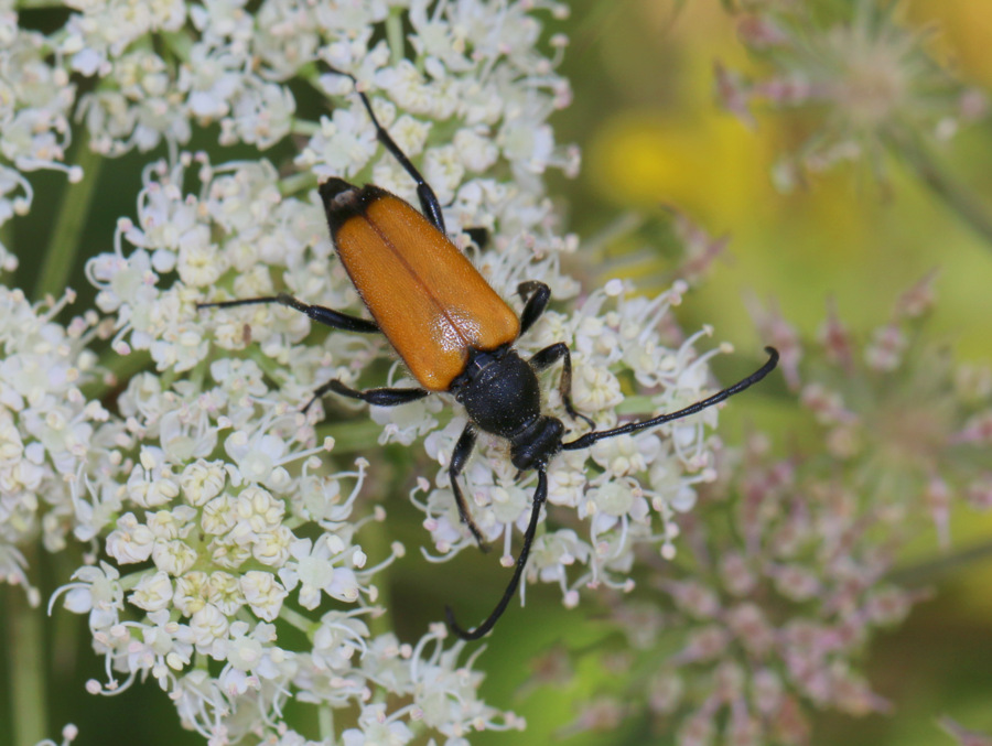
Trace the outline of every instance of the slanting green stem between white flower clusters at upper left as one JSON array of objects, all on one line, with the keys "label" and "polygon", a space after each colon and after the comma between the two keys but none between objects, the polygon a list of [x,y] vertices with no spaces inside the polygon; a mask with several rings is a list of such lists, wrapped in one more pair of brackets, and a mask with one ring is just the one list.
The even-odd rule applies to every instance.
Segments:
[{"label": "slanting green stem between white flower clusters at upper left", "polygon": [[55,227],[42,260],[41,274],[34,285],[34,299],[45,295],[60,296],[76,262],[83,227],[89,216],[96,184],[100,177],[100,165],[104,158],[89,149],[88,138],[83,138],[76,147],[76,165],[83,169],[83,181],[78,184],[66,184],[58,206]]}]

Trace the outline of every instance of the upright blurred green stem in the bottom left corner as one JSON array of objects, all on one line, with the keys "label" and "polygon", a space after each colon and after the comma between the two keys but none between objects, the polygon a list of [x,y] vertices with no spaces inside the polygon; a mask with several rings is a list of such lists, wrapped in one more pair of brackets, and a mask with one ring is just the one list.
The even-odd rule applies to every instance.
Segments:
[{"label": "upright blurred green stem in the bottom left corner", "polygon": [[[34,566],[35,556],[29,556]],[[3,604],[10,620],[10,712],[13,746],[33,746],[46,735],[48,707],[45,699],[45,618],[32,608],[24,588],[9,585]]]}]

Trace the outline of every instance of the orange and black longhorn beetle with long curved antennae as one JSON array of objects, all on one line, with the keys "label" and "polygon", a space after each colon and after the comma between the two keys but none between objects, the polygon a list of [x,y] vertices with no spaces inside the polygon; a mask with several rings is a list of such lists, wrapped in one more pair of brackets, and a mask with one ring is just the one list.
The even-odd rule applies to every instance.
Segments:
[{"label": "orange and black longhorn beetle with long curved antennae", "polygon": [[[351,75],[348,77],[355,80]],[[527,333],[547,307],[551,298],[548,285],[529,281],[517,288],[524,301],[519,316],[496,294],[448,238],[434,191],[379,125],[368,97],[362,91],[358,95],[379,142],[417,183],[422,210],[417,212],[407,202],[374,185],[357,187],[341,179],[331,179],[320,186],[337,256],[371,320],[310,305],[284,293],[202,303],[198,307],[280,303],[336,329],[386,335],[420,383],[419,388],[358,391],[339,380],[332,380],[314,391],[306,407],[331,391],[378,407],[405,404],[436,392],[453,394],[464,406],[468,424],[455,444],[448,473],[459,516],[481,547],[484,547],[482,532],[472,520],[459,486],[459,476],[468,462],[477,433],[482,431],[505,439],[509,443],[513,465],[521,472],[537,471],[530,522],[503,598],[471,631],[459,626],[450,607],[445,609],[449,625],[459,637],[478,639],[496,624],[520,582],[541,506],[548,496],[548,464],[559,451],[585,448],[605,437],[655,428],[712,407],[767,376],[778,363],[778,353],[766,347],[769,358],[758,370],[690,407],[612,430],[592,431],[564,442],[562,421],[541,412],[537,374],[561,360],[559,391],[565,412],[572,419],[581,418],[593,425],[572,406],[572,361],[568,346],[559,342],[527,359],[514,349],[517,338]]]}]

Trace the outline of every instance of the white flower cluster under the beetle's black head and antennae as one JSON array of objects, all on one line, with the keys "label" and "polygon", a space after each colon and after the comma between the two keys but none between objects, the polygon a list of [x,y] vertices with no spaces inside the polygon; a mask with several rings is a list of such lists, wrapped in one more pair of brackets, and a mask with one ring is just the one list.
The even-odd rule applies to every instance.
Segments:
[{"label": "white flower cluster under the beetle's black head and antennae", "polygon": [[[681,409],[709,393],[705,360],[716,352],[697,356],[692,349],[697,338],[709,329],[672,346],[666,344],[659,324],[670,306],[681,301],[682,292],[684,285],[677,283],[654,300],[627,299],[623,283],[611,281],[570,316],[546,312],[520,340],[520,348],[530,353],[556,342],[569,344],[573,403],[592,417],[600,430],[617,424],[616,408],[624,402],[623,378],[658,391],[639,401],[637,411]],[[548,403],[570,422],[557,388],[549,392]],[[390,414],[391,410],[374,408],[377,421]],[[528,580],[558,584],[564,603],[574,606],[583,586],[602,583],[629,591],[633,583],[628,576],[638,542],[657,543],[666,559],[675,556],[675,515],[693,506],[696,484],[715,477],[703,430],[707,424],[714,425],[715,419],[716,412],[707,410],[669,426],[607,439],[590,451],[556,458],[548,472],[548,501],[570,509],[561,520],[574,526],[548,530],[538,538],[527,565]],[[397,430],[387,430],[386,437],[395,433],[403,440],[401,424],[393,421],[392,425]],[[427,516],[424,526],[440,552],[439,556],[428,556],[436,561],[474,547],[460,526],[446,469],[464,425],[465,418],[456,417],[427,437],[428,452],[441,463],[436,489],[421,480],[412,495],[414,505]],[[419,426],[419,422],[411,422],[407,431],[412,435]],[[527,526],[535,479],[518,477],[497,440],[493,439],[485,450],[488,457],[472,461],[466,469],[470,502],[483,534],[503,547],[503,563],[510,565],[515,528]],[[658,519],[660,527],[654,525]],[[576,532],[579,525],[586,536]]]}]

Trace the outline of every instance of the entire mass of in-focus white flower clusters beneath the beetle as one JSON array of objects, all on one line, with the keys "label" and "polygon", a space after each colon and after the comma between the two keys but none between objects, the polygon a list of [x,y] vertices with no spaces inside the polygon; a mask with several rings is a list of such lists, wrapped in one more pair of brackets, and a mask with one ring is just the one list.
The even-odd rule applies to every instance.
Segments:
[{"label": "entire mass of in-focus white flower clusters beneath the beetle", "polygon": [[[478,700],[482,675],[473,660],[459,662],[462,642],[444,647],[442,626],[408,645],[366,624],[389,612],[376,606],[375,580],[402,548],[366,556],[363,537],[382,531],[385,517],[358,499],[368,463],[328,474],[335,443],[317,431],[321,407],[304,415],[300,404],[332,378],[381,385],[359,375],[390,359],[385,343],[339,332],[306,339],[309,318],[281,306],[196,304],[284,291],[360,313],[312,187],[333,175],[411,201],[416,192],[377,144],[352,82],[334,71],[354,74],[368,91],[436,191],[460,246],[504,298],[525,280],[546,282],[559,300],[575,295],[560,263],[576,241],[557,234],[541,182],[548,167],[578,165],[547,123],[570,97],[554,74],[564,41],[544,44],[551,58],[538,51],[538,13],[565,8],[542,0],[263,0],[254,12],[240,0],[71,4],[77,12],[47,35],[0,13],[0,223],[30,208],[23,172],[63,167],[73,117],[99,153],[165,142],[170,156],[148,165],[136,215],[118,221],[112,250],[87,264],[106,322],[89,312],[63,328],[51,322],[58,306],[31,306],[18,291],[0,295],[0,572],[26,582],[18,545],[39,526],[53,551],[68,531],[89,542],[87,563],[53,603],[88,615],[107,671],[90,689],[119,691],[151,675],[212,744],[249,734],[306,743],[282,718],[289,698],[319,706],[321,738],[348,746],[414,736],[461,746],[473,731],[522,726]],[[71,80],[80,77],[99,85],[77,97]],[[333,113],[299,119],[301,85],[331,98]],[[216,165],[181,150],[211,123],[222,144],[305,138],[300,173],[261,159]],[[460,233],[476,227],[493,236],[486,251]],[[12,266],[0,248],[0,269]],[[633,300],[611,282],[572,315],[547,312],[521,348],[570,345],[574,403],[599,426],[616,423],[617,407],[678,409],[708,385],[708,356],[668,316],[683,291]],[[147,350],[157,369],[131,378],[109,409],[79,389],[97,367],[85,350],[97,334],[112,337],[116,354]],[[393,366],[389,382],[397,377]],[[625,400],[624,389],[638,387],[653,393]],[[550,411],[563,414],[549,388]],[[464,417],[445,399],[373,412],[381,441],[425,435],[442,465],[436,488],[422,480],[413,496],[441,559],[472,545],[443,468]],[[559,584],[574,605],[584,585],[632,586],[636,541],[670,558],[675,512],[712,477],[703,425],[715,417],[710,410],[560,456],[549,504],[567,528],[539,536],[527,580]],[[517,479],[500,447],[484,440],[465,477],[479,527],[508,558],[532,485]],[[324,717],[338,710],[356,726],[335,728]]]}]

